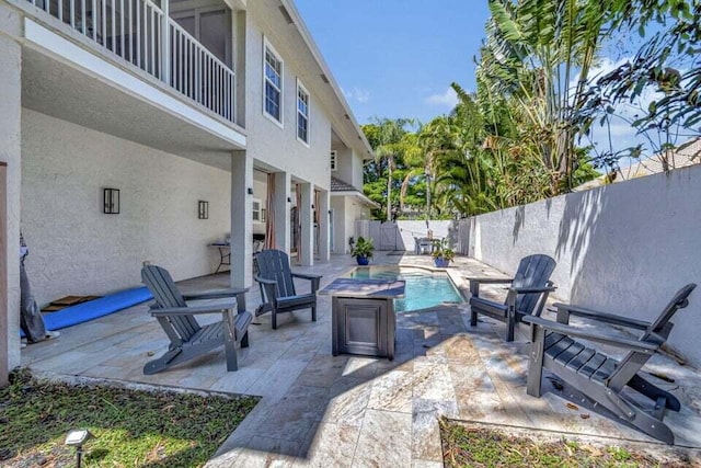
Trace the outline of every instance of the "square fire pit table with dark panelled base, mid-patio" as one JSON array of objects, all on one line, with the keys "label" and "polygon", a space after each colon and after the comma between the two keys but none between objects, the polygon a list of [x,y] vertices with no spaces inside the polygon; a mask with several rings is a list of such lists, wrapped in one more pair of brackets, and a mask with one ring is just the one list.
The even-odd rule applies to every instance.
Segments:
[{"label": "square fire pit table with dark panelled base, mid-patio", "polygon": [[319,294],[332,297],[332,353],[394,358],[394,303],[403,281],[337,278]]}]

